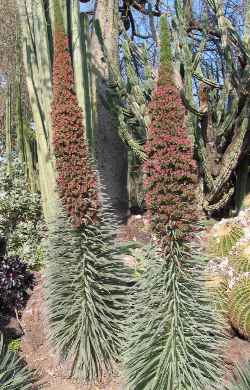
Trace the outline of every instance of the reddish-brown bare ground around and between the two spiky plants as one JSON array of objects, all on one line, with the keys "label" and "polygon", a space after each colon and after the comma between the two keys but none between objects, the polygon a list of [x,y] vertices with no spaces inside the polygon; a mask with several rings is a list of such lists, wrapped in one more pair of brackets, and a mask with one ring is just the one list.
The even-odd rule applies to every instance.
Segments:
[{"label": "reddish-brown bare ground around and between the two spiky plants", "polygon": [[[149,241],[149,223],[143,216],[133,216],[121,226],[119,240]],[[37,274],[37,285],[22,316],[25,335],[22,338],[22,355],[28,365],[39,373],[46,390],[125,390],[119,373],[105,378],[103,383],[89,387],[70,379],[70,367],[59,362],[47,340],[46,308],[43,297],[43,279]],[[250,361],[250,343],[233,332],[225,348],[225,382],[232,378],[235,363]]]}]

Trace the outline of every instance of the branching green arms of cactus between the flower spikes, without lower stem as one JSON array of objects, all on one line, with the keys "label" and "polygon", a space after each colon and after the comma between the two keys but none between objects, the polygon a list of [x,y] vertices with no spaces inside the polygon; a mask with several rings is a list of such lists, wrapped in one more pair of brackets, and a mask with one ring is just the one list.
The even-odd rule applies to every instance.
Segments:
[{"label": "branching green arms of cactus between the flower spikes, without lower stem", "polygon": [[[139,160],[145,160],[143,144],[146,141],[147,127],[150,118],[147,112],[147,103],[153,89],[152,69],[147,58],[146,47],[138,48],[124,33],[122,44],[124,57],[125,79],[120,72],[109,66],[112,71],[112,81],[109,83],[111,96],[115,96],[113,109],[119,114],[119,133],[122,140],[128,145],[130,150]],[[134,61],[138,61],[145,70],[144,78],[138,75]]]}]

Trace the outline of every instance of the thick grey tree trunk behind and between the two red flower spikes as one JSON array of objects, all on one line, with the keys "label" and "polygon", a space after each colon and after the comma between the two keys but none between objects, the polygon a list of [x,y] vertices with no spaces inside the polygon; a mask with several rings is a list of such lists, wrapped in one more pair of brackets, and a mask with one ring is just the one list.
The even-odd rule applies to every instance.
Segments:
[{"label": "thick grey tree trunk behind and between the two red flower spikes", "polygon": [[[119,66],[118,17],[118,0],[97,0],[95,21],[101,28],[108,58],[116,69]],[[118,118],[107,108],[107,82],[110,72],[95,32],[92,34],[90,46],[96,164],[111,206],[120,218],[124,218],[128,212],[127,147],[118,134]]]}]

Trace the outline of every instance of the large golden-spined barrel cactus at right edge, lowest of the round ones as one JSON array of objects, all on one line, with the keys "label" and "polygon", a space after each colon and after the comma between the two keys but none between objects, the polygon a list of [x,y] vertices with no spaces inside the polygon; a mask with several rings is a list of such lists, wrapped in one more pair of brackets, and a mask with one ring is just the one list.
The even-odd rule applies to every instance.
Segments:
[{"label": "large golden-spined barrel cactus at right edge, lowest of the round ones", "polygon": [[229,319],[241,336],[250,339],[250,278],[242,277],[229,293]]}]

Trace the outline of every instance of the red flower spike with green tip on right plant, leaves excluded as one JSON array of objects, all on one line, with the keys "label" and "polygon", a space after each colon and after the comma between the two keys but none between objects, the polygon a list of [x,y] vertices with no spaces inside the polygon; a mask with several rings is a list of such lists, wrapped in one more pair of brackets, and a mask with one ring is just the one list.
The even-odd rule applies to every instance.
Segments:
[{"label": "red flower spike with green tip on right plant, leaves excluded", "polygon": [[197,169],[185,127],[185,109],[172,76],[167,21],[161,18],[159,80],[149,105],[151,125],[145,146],[146,204],[156,236],[165,246],[174,231],[187,241],[197,222]]}]

